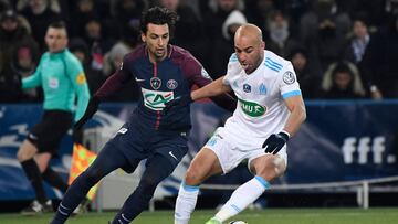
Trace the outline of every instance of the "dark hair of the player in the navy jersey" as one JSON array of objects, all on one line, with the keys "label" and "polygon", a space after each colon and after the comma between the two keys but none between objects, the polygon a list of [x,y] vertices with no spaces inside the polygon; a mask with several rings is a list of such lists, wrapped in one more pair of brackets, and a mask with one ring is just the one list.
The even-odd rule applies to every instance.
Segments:
[{"label": "dark hair of the player in the navy jersey", "polygon": [[143,33],[147,32],[147,25],[149,23],[163,25],[168,24],[170,33],[174,31],[174,26],[176,24],[177,13],[170,11],[166,8],[154,7],[148,9],[147,12],[143,13],[140,19],[140,31]]}]

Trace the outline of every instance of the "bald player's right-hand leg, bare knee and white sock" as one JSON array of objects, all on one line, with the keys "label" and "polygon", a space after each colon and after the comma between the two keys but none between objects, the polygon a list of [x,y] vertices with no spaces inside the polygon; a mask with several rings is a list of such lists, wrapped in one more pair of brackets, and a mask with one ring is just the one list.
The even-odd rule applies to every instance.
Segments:
[{"label": "bald player's right-hand leg, bare knee and white sock", "polygon": [[253,179],[239,186],[230,200],[208,223],[222,223],[243,211],[270,188],[270,182],[286,170],[284,159],[277,154],[265,154],[255,158],[250,163],[250,170],[255,174]]}]

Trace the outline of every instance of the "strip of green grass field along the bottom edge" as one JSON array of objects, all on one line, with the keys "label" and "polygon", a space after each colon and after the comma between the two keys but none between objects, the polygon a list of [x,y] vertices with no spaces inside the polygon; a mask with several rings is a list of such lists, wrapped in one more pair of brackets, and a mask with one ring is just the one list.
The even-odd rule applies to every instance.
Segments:
[{"label": "strip of green grass field along the bottom edge", "polygon": [[[197,211],[190,224],[203,224],[214,211]],[[70,218],[69,224],[107,224],[115,213],[86,213]],[[0,224],[45,224],[51,214],[21,216],[0,214]],[[397,224],[398,207],[395,209],[266,209],[245,211],[233,220],[249,224]],[[172,224],[172,211],[144,212],[134,224]]]}]

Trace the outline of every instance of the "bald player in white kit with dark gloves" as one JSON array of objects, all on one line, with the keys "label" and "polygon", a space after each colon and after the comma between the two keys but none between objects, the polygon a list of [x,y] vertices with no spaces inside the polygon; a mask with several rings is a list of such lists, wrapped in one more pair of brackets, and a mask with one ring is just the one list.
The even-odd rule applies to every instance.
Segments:
[{"label": "bald player in white kit with dark gloves", "polygon": [[239,102],[233,116],[216,130],[188,168],[178,192],[175,224],[189,222],[202,181],[230,172],[244,159],[254,178],[240,185],[207,224],[220,224],[243,211],[286,170],[286,141],[305,120],[305,106],[291,62],[264,47],[258,26],[240,26],[227,75],[167,104],[170,108],[230,90]]}]

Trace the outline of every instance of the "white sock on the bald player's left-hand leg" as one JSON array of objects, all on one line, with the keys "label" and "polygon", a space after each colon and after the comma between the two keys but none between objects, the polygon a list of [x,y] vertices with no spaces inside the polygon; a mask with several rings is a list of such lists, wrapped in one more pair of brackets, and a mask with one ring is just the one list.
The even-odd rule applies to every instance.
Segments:
[{"label": "white sock on the bald player's left-hand leg", "polygon": [[199,194],[199,186],[187,185],[184,182],[178,191],[175,209],[175,224],[188,224]]}]

